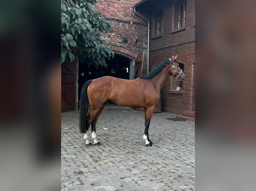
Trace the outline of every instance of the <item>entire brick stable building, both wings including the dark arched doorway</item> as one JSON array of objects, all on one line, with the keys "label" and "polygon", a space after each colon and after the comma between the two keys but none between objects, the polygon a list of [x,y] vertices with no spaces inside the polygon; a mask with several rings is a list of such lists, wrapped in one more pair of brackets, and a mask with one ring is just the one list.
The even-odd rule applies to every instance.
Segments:
[{"label": "entire brick stable building, both wings including the dark arched doorway", "polygon": [[86,68],[79,65],[79,87],[106,75],[132,80],[178,54],[186,77],[179,82],[182,91],[176,91],[175,79],[167,77],[162,110],[195,111],[195,0],[99,0],[95,10],[113,24],[113,32],[103,33],[102,39],[115,57],[106,60],[108,69],[89,68],[90,76],[82,76]]}]

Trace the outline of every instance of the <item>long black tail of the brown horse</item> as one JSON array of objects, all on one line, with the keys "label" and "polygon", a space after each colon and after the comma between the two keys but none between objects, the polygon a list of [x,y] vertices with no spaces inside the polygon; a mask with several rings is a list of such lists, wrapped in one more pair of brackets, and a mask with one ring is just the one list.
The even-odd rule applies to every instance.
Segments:
[{"label": "long black tail of the brown horse", "polygon": [[89,129],[89,99],[87,95],[88,86],[92,83],[92,80],[88,80],[81,90],[80,96],[80,111],[79,111],[79,131],[80,133],[86,133]]}]

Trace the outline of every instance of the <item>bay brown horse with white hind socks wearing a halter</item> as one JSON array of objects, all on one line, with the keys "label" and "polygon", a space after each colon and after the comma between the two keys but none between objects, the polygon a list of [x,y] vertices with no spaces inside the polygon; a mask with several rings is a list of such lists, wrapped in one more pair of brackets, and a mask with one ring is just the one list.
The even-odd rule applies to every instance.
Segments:
[{"label": "bay brown horse with white hind socks wearing a halter", "polygon": [[[152,146],[148,137],[148,128],[155,106],[159,102],[160,91],[167,75],[184,80],[185,75],[176,62],[177,56],[163,61],[148,75],[135,80],[124,80],[104,76],[87,81],[81,90],[80,98],[80,132],[84,134],[86,145],[92,145],[88,140],[88,129],[92,125],[94,145],[99,145],[96,139],[96,123],[107,102],[111,100],[126,107],[145,109],[145,131],[143,139],[146,146]],[[90,108],[89,108],[90,106]]]}]

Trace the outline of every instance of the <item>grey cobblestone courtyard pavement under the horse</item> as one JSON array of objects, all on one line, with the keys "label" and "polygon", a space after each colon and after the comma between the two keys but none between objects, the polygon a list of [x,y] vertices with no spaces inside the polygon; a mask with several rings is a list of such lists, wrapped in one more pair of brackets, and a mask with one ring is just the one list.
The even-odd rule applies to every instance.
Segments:
[{"label": "grey cobblestone courtyard pavement under the horse", "polygon": [[153,114],[147,147],[144,112],[106,105],[96,124],[101,145],[87,147],[79,111],[61,113],[61,190],[195,190],[195,122],[171,117]]}]

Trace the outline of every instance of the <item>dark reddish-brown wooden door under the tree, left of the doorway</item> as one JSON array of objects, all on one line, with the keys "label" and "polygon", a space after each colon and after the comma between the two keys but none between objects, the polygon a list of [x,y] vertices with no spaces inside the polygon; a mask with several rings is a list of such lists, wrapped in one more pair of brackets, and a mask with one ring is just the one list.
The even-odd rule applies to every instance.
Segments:
[{"label": "dark reddish-brown wooden door under the tree, left of the doorway", "polygon": [[75,110],[75,60],[61,65],[61,112]]}]

